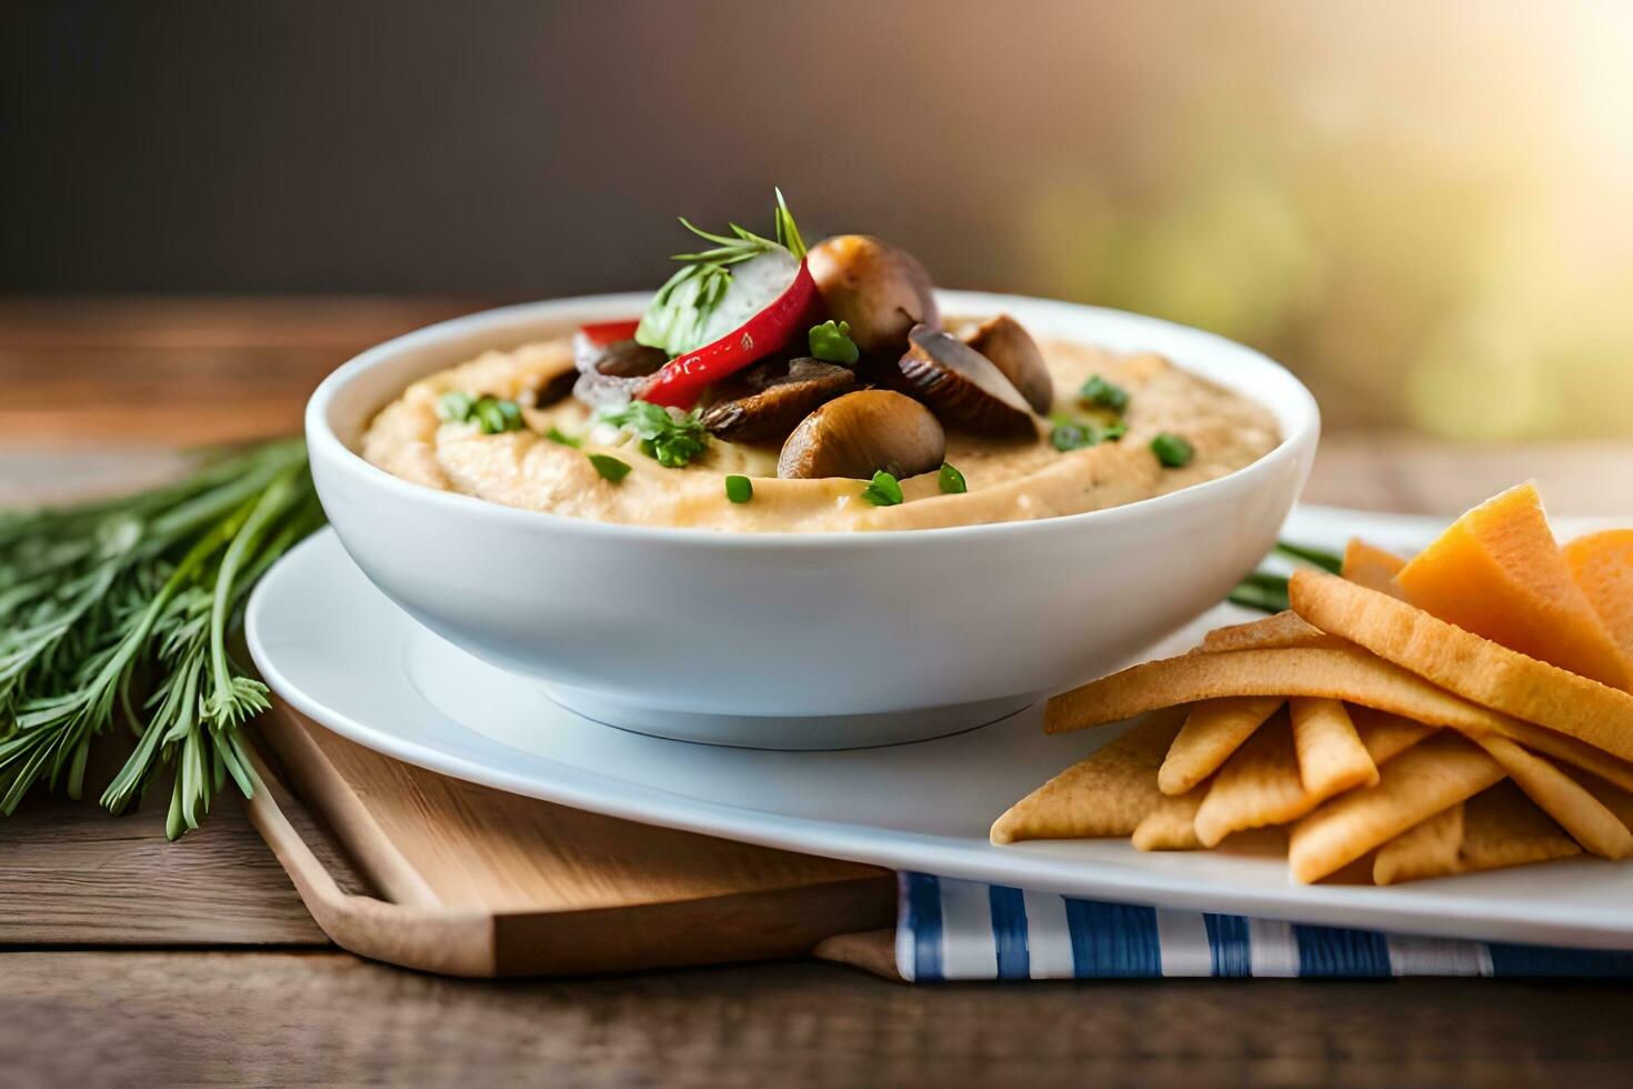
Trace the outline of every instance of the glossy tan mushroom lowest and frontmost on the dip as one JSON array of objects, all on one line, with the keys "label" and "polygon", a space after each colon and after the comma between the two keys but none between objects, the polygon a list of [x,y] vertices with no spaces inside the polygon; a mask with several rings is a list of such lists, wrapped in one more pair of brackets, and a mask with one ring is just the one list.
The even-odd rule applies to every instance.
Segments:
[{"label": "glossy tan mushroom lowest and frontmost on the dip", "polygon": [[936,469],[946,456],[947,433],[924,405],[890,390],[859,390],[828,402],[794,428],[782,444],[777,475],[867,480],[883,470],[905,478]]}]

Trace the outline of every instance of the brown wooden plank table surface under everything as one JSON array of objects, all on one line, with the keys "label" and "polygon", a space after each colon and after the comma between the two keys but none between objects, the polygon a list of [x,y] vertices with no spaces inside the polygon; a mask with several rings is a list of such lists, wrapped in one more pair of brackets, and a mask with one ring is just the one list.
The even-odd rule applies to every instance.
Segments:
[{"label": "brown wooden plank table surface under everything", "polygon": [[[462,300],[0,299],[0,506],[158,480],[180,446],[294,431],[351,353]],[[1333,434],[1306,498],[1453,514],[1525,477],[1633,514],[1633,444]],[[224,795],[165,844],[29,798],[0,820],[0,1086],[1573,1082],[1633,1078],[1633,988],[1161,981],[911,988],[823,963],[472,983],[312,924]]]}]

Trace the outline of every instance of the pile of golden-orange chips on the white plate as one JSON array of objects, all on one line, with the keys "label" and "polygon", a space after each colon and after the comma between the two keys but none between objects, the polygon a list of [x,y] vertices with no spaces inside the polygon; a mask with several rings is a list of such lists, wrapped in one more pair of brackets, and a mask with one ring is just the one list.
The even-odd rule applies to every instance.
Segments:
[{"label": "pile of golden-orange chips on the white plate", "polygon": [[1048,733],[1140,718],[991,839],[1269,829],[1298,883],[1630,857],[1630,594],[1633,531],[1560,549],[1530,485],[1413,560],[1350,542],[1342,576],[1293,575],[1292,611],[1052,699]]}]

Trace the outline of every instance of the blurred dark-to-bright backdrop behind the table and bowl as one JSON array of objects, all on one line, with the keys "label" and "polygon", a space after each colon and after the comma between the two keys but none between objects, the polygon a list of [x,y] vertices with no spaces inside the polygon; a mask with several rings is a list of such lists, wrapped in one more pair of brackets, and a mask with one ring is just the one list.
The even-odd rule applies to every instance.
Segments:
[{"label": "blurred dark-to-bright backdrop behind the table and bowl", "polygon": [[1633,434],[1628,3],[0,11],[13,331],[46,297],[647,287],[676,214],[763,229],[781,184],[946,286],[1259,346],[1336,429]]}]

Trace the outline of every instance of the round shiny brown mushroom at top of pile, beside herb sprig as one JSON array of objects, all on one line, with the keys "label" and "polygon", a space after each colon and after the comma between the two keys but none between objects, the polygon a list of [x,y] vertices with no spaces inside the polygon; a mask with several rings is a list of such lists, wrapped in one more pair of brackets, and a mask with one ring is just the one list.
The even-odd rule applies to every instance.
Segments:
[{"label": "round shiny brown mushroom at top of pile, beside herb sprig", "polygon": [[836,235],[805,255],[828,315],[851,323],[862,351],[885,356],[908,346],[914,325],[939,325],[929,273],[911,253],[869,235]]}]

